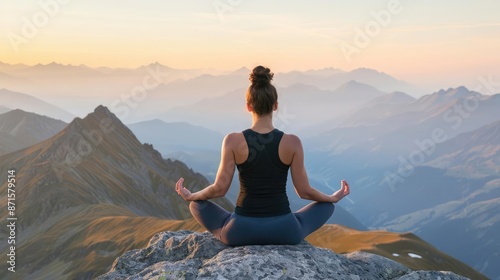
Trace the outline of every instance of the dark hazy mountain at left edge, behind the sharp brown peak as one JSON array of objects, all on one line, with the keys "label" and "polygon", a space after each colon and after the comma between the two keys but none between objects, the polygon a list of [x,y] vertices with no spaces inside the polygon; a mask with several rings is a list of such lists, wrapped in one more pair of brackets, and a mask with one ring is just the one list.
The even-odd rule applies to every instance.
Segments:
[{"label": "dark hazy mountain at left edge, behind the sharp brown peak", "polygon": [[66,123],[16,109],[0,115],[0,155],[34,145],[61,131]]}]

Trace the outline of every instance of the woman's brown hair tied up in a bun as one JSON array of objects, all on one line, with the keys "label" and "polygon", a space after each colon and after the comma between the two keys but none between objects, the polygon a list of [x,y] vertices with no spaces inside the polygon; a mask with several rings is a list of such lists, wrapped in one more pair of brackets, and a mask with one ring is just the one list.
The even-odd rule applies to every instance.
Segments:
[{"label": "woman's brown hair tied up in a bun", "polygon": [[278,92],[271,84],[274,73],[264,66],[257,66],[250,73],[252,84],[247,90],[247,104],[259,116],[272,113],[273,106],[278,102]]}]

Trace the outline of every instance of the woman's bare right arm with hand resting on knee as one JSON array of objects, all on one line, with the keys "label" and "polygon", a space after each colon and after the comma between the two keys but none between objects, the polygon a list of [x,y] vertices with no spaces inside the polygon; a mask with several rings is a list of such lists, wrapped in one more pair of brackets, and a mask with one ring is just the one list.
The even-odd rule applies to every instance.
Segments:
[{"label": "woman's bare right arm with hand resting on knee", "polygon": [[345,180],[342,180],[341,188],[332,195],[326,195],[313,188],[309,184],[309,178],[307,177],[306,168],[304,166],[304,149],[302,143],[295,135],[289,135],[289,137],[294,151],[290,170],[295,191],[300,198],[318,202],[336,203],[349,194],[349,185]]}]

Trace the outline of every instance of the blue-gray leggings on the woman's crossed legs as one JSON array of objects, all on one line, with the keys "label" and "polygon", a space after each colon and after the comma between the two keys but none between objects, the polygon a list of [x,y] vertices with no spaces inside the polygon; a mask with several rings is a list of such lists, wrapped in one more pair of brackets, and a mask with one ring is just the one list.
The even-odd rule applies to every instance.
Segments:
[{"label": "blue-gray leggings on the woman's crossed legs", "polygon": [[297,212],[273,217],[247,217],[230,213],[207,201],[192,201],[193,217],[217,239],[230,246],[298,244],[333,214],[328,202],[312,202]]}]

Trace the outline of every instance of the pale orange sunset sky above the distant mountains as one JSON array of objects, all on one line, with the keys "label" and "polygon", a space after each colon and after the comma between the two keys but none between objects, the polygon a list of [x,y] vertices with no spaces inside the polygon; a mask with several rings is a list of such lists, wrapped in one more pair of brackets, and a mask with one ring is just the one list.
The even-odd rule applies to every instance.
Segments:
[{"label": "pale orange sunset sky above the distant mountains", "polygon": [[275,72],[360,67],[424,87],[500,81],[500,1],[23,0],[0,62]]}]

